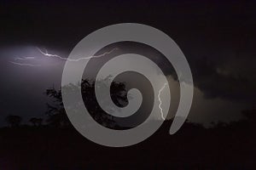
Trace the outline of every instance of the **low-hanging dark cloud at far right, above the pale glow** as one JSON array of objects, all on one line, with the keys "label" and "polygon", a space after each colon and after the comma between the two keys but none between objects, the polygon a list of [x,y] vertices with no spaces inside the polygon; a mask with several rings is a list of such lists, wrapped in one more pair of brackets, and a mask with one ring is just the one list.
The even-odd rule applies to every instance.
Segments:
[{"label": "low-hanging dark cloud at far right, above the pale glow", "polygon": [[[194,71],[195,86],[200,88],[207,98],[224,98],[253,102],[255,99],[255,59],[244,57],[214,63],[207,59],[198,59]],[[233,65],[235,63],[235,65]],[[240,70],[246,66],[249,71]]]}]

